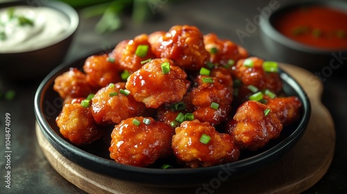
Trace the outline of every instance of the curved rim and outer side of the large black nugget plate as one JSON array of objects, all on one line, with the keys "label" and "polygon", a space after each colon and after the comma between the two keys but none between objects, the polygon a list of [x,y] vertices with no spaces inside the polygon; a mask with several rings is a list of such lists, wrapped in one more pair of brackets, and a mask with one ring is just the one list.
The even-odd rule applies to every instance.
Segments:
[{"label": "curved rim and outer side of the large black nugget plate", "polygon": [[[97,53],[93,52],[90,55]],[[87,55],[89,56],[89,55]],[[86,57],[83,58],[78,58],[78,60],[85,59]],[[54,78],[57,75],[59,71],[62,71],[62,69],[67,68],[71,64],[74,64],[78,62],[78,60],[70,60],[68,62],[64,62],[60,64],[58,67],[53,69],[51,73],[49,73],[44,80],[40,83],[39,87],[37,87],[37,91],[35,92],[35,98],[34,98],[34,111],[35,111],[35,116],[36,116],[36,121],[37,124],[39,125],[42,133],[46,137],[46,139],[53,145],[60,154],[62,154],[64,157],[69,157],[70,154],[73,155],[73,157],[69,157],[70,161],[73,161],[74,163],[78,164],[79,166],[83,168],[87,168],[88,170],[92,170],[95,173],[99,173],[102,175],[106,175],[108,177],[113,177],[117,179],[122,179],[125,181],[129,182],[135,182],[137,184],[144,184],[146,186],[160,186],[160,187],[186,187],[186,186],[191,186],[190,184],[183,184],[180,185],[178,183],[171,183],[171,182],[166,182],[164,179],[160,179],[161,176],[165,177],[174,177],[174,176],[188,176],[188,177],[198,177],[201,174],[213,174],[221,171],[221,169],[232,169],[232,168],[247,168],[247,166],[251,166],[252,164],[257,164],[260,161],[264,161],[266,158],[270,157],[277,157],[277,155],[282,152],[283,150],[286,150],[288,145],[290,149],[295,145],[295,143],[301,138],[303,133],[306,130],[306,127],[308,125],[308,122],[310,121],[310,115],[311,115],[311,105],[310,105],[310,100],[301,87],[301,85],[298,84],[294,78],[289,76],[288,73],[283,71],[282,69],[279,69],[280,76],[283,79],[288,79],[289,80],[289,85],[294,88],[294,90],[298,93],[298,97],[301,99],[303,103],[303,115],[301,116],[301,121],[298,122],[298,126],[292,132],[286,139],[280,141],[277,145],[274,145],[272,148],[269,148],[269,150],[265,150],[264,152],[261,152],[259,155],[255,155],[252,157],[248,157],[246,159],[242,159],[239,161],[235,161],[232,163],[228,164],[221,164],[218,166],[210,166],[210,167],[204,167],[204,168],[171,168],[171,169],[160,169],[160,168],[142,168],[142,167],[137,167],[137,166],[130,166],[126,164],[118,164],[115,161],[104,159],[103,157],[99,157],[96,155],[92,155],[89,152],[86,152],[85,150],[81,150],[80,148],[77,148],[76,146],[68,143],[65,139],[62,139],[54,130],[49,126],[49,123],[46,122],[46,118],[44,116],[44,110],[42,107],[43,104],[43,95],[46,89],[49,89],[49,85],[52,84],[54,81]],[[287,150],[286,152],[289,152]],[[282,156],[281,156],[282,157]],[[85,161],[86,163],[81,163],[80,161]],[[96,166],[90,166],[90,165],[95,165]],[[260,166],[261,168],[262,166]],[[101,169],[103,168],[103,169]],[[143,177],[139,178],[136,176],[133,176],[133,174],[128,175],[114,175],[110,171],[112,171],[112,168],[116,168],[119,172],[122,173],[134,173],[135,175],[149,175],[149,176],[158,176],[161,185],[157,185],[151,180],[145,179]],[[108,170],[109,169],[109,170]],[[101,172],[101,171],[102,172]],[[194,182],[194,181],[192,181]],[[193,183],[192,183],[193,184]],[[202,182],[198,182],[198,185],[201,185]],[[196,184],[195,184],[196,185]]]}]

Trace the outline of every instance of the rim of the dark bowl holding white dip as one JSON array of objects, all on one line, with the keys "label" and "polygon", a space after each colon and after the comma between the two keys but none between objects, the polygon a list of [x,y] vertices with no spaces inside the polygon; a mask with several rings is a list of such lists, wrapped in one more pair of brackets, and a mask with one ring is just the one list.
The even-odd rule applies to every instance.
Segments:
[{"label": "rim of the dark bowl holding white dip", "polygon": [[[69,28],[67,28],[65,33],[59,39],[56,39],[54,42],[51,42],[50,44],[44,44],[37,48],[31,48],[25,51],[0,52],[0,55],[17,55],[20,53],[30,53],[30,52],[40,51],[40,50],[43,50],[44,48],[54,46],[55,44],[58,44],[59,42],[64,41],[65,39],[67,39],[68,37],[70,37],[76,32],[78,28],[78,24],[79,24],[79,16],[74,8],[72,8],[71,6],[69,6],[69,4],[63,1],[46,1],[46,2],[39,1],[39,2],[40,2],[39,5],[33,4],[33,6],[52,8],[66,15],[67,19],[69,19]],[[0,8],[8,8],[11,6],[31,6],[31,5],[29,5],[28,1],[9,1],[6,3],[0,3]]]}]

